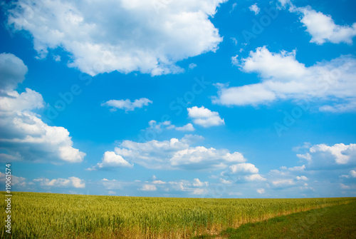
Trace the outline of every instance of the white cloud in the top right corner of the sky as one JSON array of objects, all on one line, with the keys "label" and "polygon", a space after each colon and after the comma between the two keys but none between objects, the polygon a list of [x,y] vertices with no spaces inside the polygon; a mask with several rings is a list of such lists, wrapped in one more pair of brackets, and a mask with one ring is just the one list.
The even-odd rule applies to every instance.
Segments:
[{"label": "white cloud in the top right corner of the sky", "polygon": [[312,36],[310,42],[315,44],[321,45],[325,42],[352,44],[352,38],[356,36],[356,23],[352,26],[337,25],[331,16],[315,11],[310,6],[295,7],[290,4],[289,11],[302,15],[300,22]]}]

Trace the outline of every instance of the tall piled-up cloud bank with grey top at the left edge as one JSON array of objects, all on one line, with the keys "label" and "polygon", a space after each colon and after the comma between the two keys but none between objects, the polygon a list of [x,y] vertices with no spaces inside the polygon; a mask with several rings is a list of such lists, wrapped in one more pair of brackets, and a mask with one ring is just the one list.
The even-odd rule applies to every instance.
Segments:
[{"label": "tall piled-up cloud bank with grey top at the left edge", "polygon": [[45,106],[40,93],[26,88],[15,91],[23,81],[27,67],[13,54],[0,54],[0,154],[1,161],[83,161],[85,153],[73,148],[66,128],[48,126],[36,113]]}]

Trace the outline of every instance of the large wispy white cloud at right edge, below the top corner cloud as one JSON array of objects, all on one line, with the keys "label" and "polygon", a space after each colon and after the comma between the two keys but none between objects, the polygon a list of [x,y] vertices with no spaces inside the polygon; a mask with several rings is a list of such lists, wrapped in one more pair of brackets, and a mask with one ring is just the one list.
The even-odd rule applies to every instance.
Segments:
[{"label": "large wispy white cloud at right edge, below the top corner cloud", "polygon": [[241,71],[258,73],[262,82],[238,87],[216,84],[218,96],[213,97],[212,102],[225,106],[257,106],[278,100],[309,99],[323,104],[320,111],[355,111],[355,58],[340,56],[306,67],[295,59],[295,54],[296,51],[272,53],[266,46],[251,51],[236,64]]}]

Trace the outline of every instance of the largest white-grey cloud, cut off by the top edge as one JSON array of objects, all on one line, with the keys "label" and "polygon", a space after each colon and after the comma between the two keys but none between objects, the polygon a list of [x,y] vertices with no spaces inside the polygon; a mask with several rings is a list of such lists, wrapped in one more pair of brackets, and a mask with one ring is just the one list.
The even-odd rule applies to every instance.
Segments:
[{"label": "largest white-grey cloud, cut off by the top edge", "polygon": [[224,1],[158,7],[153,1],[19,0],[8,10],[8,25],[31,34],[39,58],[61,47],[72,56],[68,66],[91,76],[178,73],[177,61],[218,49],[222,38],[209,18]]}]

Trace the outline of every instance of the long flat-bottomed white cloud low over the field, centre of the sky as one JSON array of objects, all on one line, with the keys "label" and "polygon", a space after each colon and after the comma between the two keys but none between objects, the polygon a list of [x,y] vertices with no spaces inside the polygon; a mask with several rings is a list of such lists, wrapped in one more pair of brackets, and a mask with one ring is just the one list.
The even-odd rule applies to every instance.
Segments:
[{"label": "long flat-bottomed white cloud low over the field, centre of the sky", "polygon": [[136,163],[145,168],[155,169],[219,169],[227,168],[231,163],[246,161],[239,152],[230,153],[226,149],[192,146],[201,136],[186,135],[180,140],[168,141],[122,141],[115,148],[115,155],[128,163]]}]

